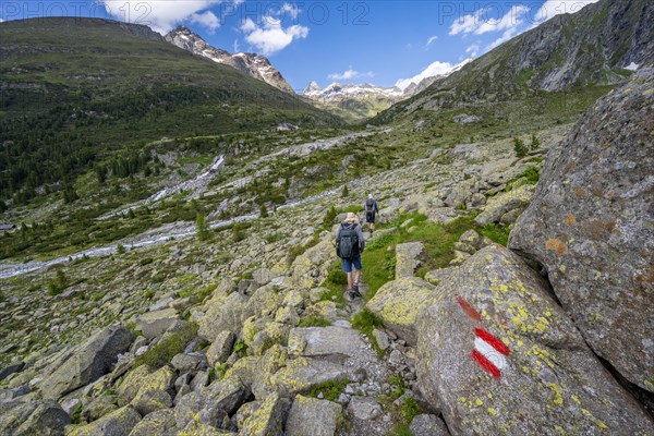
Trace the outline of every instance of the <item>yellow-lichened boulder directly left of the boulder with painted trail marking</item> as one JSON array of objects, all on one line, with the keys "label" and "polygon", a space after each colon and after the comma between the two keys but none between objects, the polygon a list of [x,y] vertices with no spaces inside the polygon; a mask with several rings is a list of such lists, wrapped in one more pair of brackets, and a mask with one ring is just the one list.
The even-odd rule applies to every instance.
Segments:
[{"label": "yellow-lichened boulder directly left of the boulder with painted trail marking", "polygon": [[382,318],[384,326],[409,344],[415,344],[419,311],[428,304],[436,288],[426,281],[405,277],[384,284],[366,307]]}]

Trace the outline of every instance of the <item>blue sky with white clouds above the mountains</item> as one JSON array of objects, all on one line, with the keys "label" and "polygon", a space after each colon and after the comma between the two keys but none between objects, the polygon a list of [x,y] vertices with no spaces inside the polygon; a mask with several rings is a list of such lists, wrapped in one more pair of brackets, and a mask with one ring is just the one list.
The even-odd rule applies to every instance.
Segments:
[{"label": "blue sky with white clouds above the mountains", "polygon": [[302,89],[310,81],[405,86],[594,1],[3,0],[0,20],[98,16],[160,33],[184,24],[216,47],[267,56]]}]

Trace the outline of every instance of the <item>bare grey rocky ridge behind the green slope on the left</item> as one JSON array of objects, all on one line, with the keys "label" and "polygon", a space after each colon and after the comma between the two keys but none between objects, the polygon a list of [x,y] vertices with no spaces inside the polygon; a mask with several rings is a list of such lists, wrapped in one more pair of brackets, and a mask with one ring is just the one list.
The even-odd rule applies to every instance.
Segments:
[{"label": "bare grey rocky ridge behind the green slope on the left", "polygon": [[237,69],[286,93],[294,94],[291,85],[287,83],[281,73],[270,64],[270,61],[265,56],[241,52],[230,53],[213,47],[186,26],[179,26],[170,31],[166,35],[166,40],[194,55],[199,55],[214,62]]}]

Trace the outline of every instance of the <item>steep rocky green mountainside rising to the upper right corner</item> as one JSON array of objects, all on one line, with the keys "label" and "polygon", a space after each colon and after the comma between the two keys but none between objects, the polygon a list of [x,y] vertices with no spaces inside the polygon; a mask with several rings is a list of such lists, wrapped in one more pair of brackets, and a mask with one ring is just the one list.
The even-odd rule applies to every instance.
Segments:
[{"label": "steep rocky green mountainside rising to the upper right corner", "polygon": [[646,0],[602,0],[574,14],[556,15],[379,117],[622,83],[632,73],[628,66],[654,62],[652,22],[654,3]]}]

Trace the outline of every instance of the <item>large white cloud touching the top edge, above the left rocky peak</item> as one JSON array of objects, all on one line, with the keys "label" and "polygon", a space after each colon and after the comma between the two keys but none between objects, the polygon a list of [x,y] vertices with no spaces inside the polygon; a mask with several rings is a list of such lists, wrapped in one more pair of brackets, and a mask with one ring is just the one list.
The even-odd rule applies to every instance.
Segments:
[{"label": "large white cloud touching the top edge, above the left rocky peak", "polygon": [[216,15],[207,11],[213,17],[216,17],[214,21],[210,15],[207,15],[207,12],[201,12],[214,4],[220,3],[221,0],[99,0],[99,2],[105,7],[107,13],[117,20],[145,24],[160,34],[166,34],[177,24],[185,20],[193,20],[193,17],[215,26],[218,22]]}]

